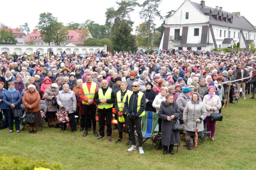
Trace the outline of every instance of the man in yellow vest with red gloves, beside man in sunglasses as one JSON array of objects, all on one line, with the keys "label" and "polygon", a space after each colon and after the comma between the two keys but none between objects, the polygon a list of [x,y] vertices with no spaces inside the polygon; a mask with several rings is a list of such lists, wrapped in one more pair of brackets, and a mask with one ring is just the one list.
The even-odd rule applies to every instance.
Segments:
[{"label": "man in yellow vest with red gloves, beside man in sunglasses", "polygon": [[121,90],[117,91],[116,99],[115,99],[115,109],[118,115],[117,129],[119,134],[119,138],[115,141],[115,143],[119,143],[123,141],[123,125],[125,124],[125,133],[128,133],[129,135],[129,141],[126,143],[126,146],[131,145],[131,137],[129,133],[129,123],[128,123],[127,115],[124,112],[124,106],[125,106],[125,101],[128,94],[132,93],[130,90],[127,89],[127,86],[128,84],[126,81],[122,81],[120,83]]}]

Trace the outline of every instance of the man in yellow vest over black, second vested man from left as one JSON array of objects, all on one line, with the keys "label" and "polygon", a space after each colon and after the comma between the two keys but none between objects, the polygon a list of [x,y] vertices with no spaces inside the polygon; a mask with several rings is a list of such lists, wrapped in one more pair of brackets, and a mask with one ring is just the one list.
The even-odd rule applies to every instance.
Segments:
[{"label": "man in yellow vest over black, second vested man from left", "polygon": [[[106,121],[106,132],[108,135],[108,140],[111,142],[112,138],[112,108],[113,103],[115,103],[115,93],[114,91],[108,87],[109,83],[106,80],[102,80],[102,87],[95,93],[94,101],[98,103],[98,116],[99,116],[99,132],[100,137],[97,140],[101,140],[104,138],[104,129],[105,129],[105,121]],[[106,119],[106,120],[105,120]]]}]

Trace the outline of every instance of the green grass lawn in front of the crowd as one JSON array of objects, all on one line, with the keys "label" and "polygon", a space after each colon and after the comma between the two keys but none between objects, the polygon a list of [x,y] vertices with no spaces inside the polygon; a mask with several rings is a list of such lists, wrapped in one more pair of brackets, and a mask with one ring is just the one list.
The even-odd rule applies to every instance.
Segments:
[{"label": "green grass lawn in front of the crowd", "polygon": [[[127,152],[126,141],[114,143],[107,138],[100,141],[90,131],[83,137],[79,130],[64,133],[60,129],[46,129],[28,134],[26,126],[20,134],[0,131],[1,152],[21,155],[29,159],[58,162],[64,169],[256,169],[256,101],[240,99],[222,110],[223,121],[216,123],[215,141],[204,142],[197,150],[182,147],[175,155],[163,155],[162,150]],[[97,129],[98,130],[98,129]],[[118,133],[112,133],[118,136]],[[125,135],[125,139],[128,135]],[[147,146],[151,141],[146,142]],[[174,147],[174,150],[176,147]]]}]

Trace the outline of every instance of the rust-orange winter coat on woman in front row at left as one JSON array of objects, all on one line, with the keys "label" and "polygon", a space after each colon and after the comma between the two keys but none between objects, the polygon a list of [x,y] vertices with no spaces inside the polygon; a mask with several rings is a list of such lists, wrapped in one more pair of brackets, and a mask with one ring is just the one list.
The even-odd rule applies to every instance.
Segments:
[{"label": "rust-orange winter coat on woman in front row at left", "polygon": [[41,110],[40,100],[41,98],[38,91],[34,89],[34,91],[31,92],[29,89],[27,89],[22,98],[22,102],[25,105],[25,112],[31,112],[31,109],[28,108],[29,105],[32,106],[32,113],[39,112]]}]

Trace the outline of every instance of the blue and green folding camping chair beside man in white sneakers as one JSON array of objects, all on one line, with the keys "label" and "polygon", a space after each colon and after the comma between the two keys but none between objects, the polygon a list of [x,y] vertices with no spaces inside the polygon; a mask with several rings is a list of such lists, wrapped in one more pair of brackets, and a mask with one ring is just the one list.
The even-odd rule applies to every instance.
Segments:
[{"label": "blue and green folding camping chair beside man in white sneakers", "polygon": [[[158,115],[155,112],[146,111],[145,115],[142,116],[141,118],[142,118],[142,123],[143,123],[141,132],[142,132],[143,139],[145,139],[142,143],[146,147],[145,141],[147,141],[148,139],[151,139],[151,141],[152,141],[151,149],[149,150],[146,147],[147,150],[151,151],[153,144],[154,143],[156,144],[155,140],[152,137],[157,133],[156,124],[158,122]],[[135,133],[135,135],[138,137],[137,133]],[[136,142],[136,145],[138,143],[138,140]]]}]

